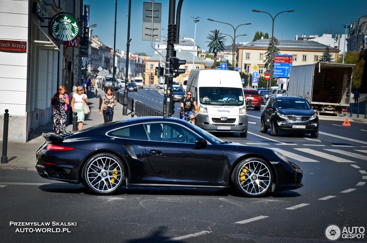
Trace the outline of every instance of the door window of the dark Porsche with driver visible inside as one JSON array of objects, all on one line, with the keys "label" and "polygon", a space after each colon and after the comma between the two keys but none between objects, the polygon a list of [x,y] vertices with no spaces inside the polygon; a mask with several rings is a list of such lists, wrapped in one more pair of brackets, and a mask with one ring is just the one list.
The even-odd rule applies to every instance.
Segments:
[{"label": "door window of the dark Porsche with driver visible inside", "polygon": [[195,143],[197,135],[174,123],[147,123],[144,125],[150,141]]}]

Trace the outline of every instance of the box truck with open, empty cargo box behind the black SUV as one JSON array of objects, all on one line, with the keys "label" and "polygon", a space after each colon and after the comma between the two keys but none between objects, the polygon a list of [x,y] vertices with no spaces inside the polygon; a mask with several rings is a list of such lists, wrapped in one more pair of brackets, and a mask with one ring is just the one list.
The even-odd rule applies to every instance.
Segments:
[{"label": "box truck with open, empty cargo box behind the black SUV", "polygon": [[305,97],[320,114],[338,116],[350,104],[353,66],[330,62],[292,66],[287,95]]}]

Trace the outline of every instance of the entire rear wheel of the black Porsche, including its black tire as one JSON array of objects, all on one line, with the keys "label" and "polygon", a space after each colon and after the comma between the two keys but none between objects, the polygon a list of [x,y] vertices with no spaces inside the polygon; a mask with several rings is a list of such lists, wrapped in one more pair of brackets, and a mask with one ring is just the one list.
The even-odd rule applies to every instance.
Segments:
[{"label": "entire rear wheel of the black Porsche, including its black tire", "polygon": [[[102,167],[102,168],[101,168]],[[82,171],[83,185],[98,195],[109,195],[124,184],[124,163],[111,153],[98,153],[88,159]]]}]

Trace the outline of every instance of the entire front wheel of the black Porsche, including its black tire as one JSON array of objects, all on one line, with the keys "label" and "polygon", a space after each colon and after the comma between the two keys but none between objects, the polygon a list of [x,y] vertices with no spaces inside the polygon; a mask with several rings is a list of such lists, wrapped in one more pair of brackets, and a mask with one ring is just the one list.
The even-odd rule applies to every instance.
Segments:
[{"label": "entire front wheel of the black Porsche, including its black tire", "polygon": [[232,186],[242,196],[261,197],[273,184],[273,173],[268,162],[257,157],[242,160],[231,175]]}]

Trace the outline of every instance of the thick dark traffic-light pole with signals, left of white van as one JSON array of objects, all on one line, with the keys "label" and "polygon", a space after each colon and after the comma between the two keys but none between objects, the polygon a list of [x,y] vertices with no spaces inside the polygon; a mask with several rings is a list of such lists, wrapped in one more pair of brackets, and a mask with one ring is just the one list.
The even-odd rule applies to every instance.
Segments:
[{"label": "thick dark traffic-light pole with signals, left of white van", "polygon": [[167,34],[167,55],[164,62],[164,83],[167,85],[166,94],[164,95],[163,116],[170,117],[174,113],[174,101],[172,99],[172,84],[173,78],[181,73],[185,73],[185,69],[180,69],[179,66],[186,64],[186,60],[180,60],[176,57],[174,44],[179,40],[179,26],[181,17],[181,7],[183,0],[179,0],[177,4],[177,14],[175,23],[175,7],[176,1],[170,0],[168,11],[168,34]]}]

